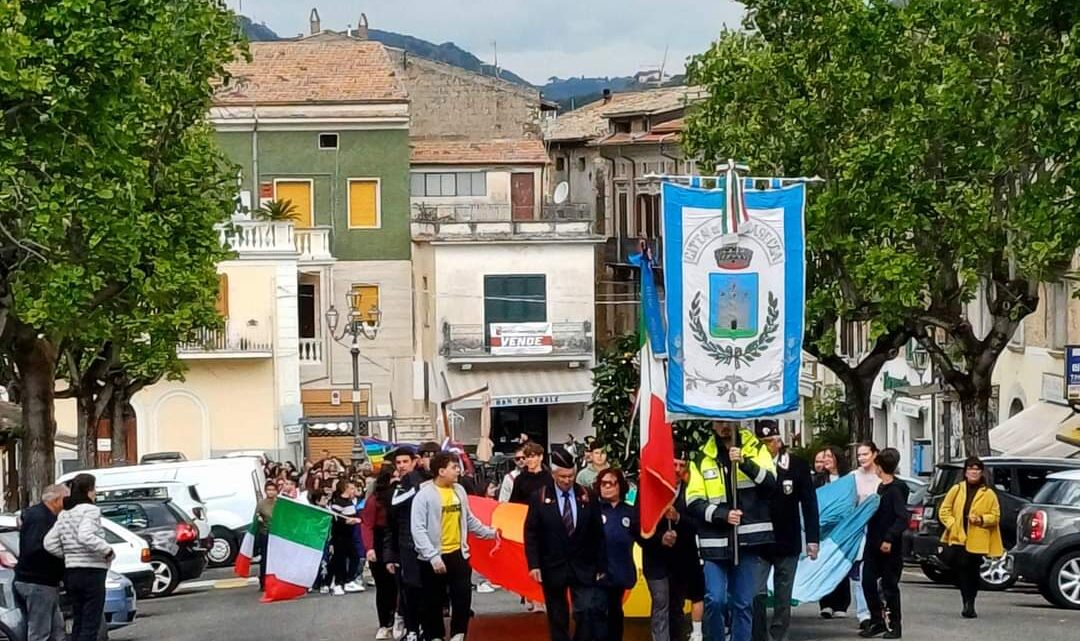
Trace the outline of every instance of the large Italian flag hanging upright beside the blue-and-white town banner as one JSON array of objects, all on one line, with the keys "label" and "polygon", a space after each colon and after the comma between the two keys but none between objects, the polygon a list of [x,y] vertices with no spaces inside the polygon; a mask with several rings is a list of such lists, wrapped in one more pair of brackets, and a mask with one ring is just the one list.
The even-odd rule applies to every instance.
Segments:
[{"label": "large Italian flag hanging upright beside the blue-and-white town banner", "polygon": [[642,444],[638,502],[642,535],[648,538],[657,530],[664,512],[675,502],[675,442],[672,425],[665,418],[667,379],[664,364],[652,353],[648,333],[642,344],[642,386],[637,392],[639,440]]}]

